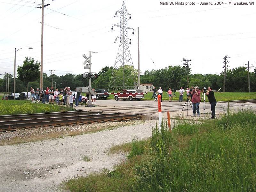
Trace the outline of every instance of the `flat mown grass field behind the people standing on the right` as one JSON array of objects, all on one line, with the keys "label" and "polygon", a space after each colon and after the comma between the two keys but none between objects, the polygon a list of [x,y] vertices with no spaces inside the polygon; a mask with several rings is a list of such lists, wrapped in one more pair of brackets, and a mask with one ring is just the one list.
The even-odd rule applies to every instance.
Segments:
[{"label": "flat mown grass field behind the people standing on the right", "polygon": [[[180,97],[179,92],[175,92],[176,96],[172,98],[174,101],[178,101]],[[153,100],[151,99],[153,93],[148,92],[147,94],[144,94],[144,98],[142,100]],[[217,92],[214,93],[214,96],[217,101],[231,101],[231,100],[246,100],[246,99],[256,99],[256,93],[245,93],[245,92],[239,92],[239,93],[231,93],[231,92]],[[114,99],[114,94],[109,94],[108,99]],[[169,100],[169,95],[166,94],[166,92],[163,93],[163,100]],[[187,95],[183,95],[183,100],[187,100]],[[204,98],[202,99],[204,100]],[[205,95],[205,101],[208,102],[208,97]]]}]

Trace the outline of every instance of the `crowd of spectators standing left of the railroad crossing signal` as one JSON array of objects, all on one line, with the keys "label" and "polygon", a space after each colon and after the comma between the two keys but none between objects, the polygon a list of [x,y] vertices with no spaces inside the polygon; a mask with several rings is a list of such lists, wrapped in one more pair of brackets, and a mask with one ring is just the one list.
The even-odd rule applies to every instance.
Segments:
[{"label": "crowd of spectators standing left of the railroad crossing signal", "polygon": [[[81,96],[80,92],[75,91],[75,94],[72,94],[72,91],[70,90],[70,87],[65,87],[64,90],[60,89],[54,89],[51,87],[46,88],[44,91],[42,88],[39,90],[39,88],[35,90],[33,87],[30,88],[31,92],[31,102],[38,102],[41,100],[41,103],[49,103],[49,104],[54,104],[54,99],[56,104],[62,104],[62,105],[67,105],[67,107],[73,108],[73,102],[75,101],[75,107],[78,107],[79,105],[79,97]],[[34,99],[35,98],[35,99]]]}]

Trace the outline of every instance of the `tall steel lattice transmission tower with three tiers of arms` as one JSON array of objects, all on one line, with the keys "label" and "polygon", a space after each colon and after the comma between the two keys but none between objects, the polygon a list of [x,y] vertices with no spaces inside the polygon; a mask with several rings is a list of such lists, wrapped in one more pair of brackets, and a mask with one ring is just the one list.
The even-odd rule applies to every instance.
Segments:
[{"label": "tall steel lattice transmission tower with three tiers of arms", "polygon": [[[120,36],[116,37],[116,40],[117,38],[120,38],[120,44],[118,47],[116,61],[112,71],[108,91],[109,89],[117,90],[118,89],[117,87],[124,88],[124,89],[125,89],[125,86],[131,87],[131,86],[127,86],[126,84],[132,75],[125,77],[124,71],[125,71],[125,65],[132,66],[133,68],[132,57],[129,49],[129,45],[131,44],[131,39],[128,38],[127,33],[128,33],[128,29],[132,29],[133,30],[132,35],[133,35],[134,29],[128,27],[128,20],[131,19],[131,14],[127,12],[124,2],[122,5],[122,8],[116,11],[115,17],[117,13],[120,13],[120,23],[112,25],[111,31],[113,30],[114,26],[120,28]],[[116,40],[114,43],[116,43]],[[129,43],[128,43],[128,40],[130,40]],[[123,77],[121,77],[120,75],[118,76],[118,74],[120,74],[120,72],[118,73],[118,70],[122,70],[122,67],[123,67]],[[137,80],[136,77],[134,79],[135,81]],[[116,89],[115,89],[115,83],[116,85],[121,84],[122,86],[116,86]],[[134,82],[134,86],[135,86],[135,82]]]}]

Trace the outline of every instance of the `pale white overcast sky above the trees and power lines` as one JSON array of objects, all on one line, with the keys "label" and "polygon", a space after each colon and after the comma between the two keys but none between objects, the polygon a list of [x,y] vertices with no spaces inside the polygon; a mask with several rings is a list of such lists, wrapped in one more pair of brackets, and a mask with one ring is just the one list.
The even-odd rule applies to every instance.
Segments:
[{"label": "pale white overcast sky above the trees and power lines", "polygon": [[[35,3],[34,3],[35,2]],[[41,14],[34,8],[40,0],[0,0],[0,73],[13,74],[14,48],[16,65],[25,56],[40,61]],[[181,2],[181,1],[180,1]],[[186,2],[186,1],[183,1]],[[201,2],[201,1],[194,1]],[[249,1],[242,1],[247,2]],[[92,53],[92,72],[114,66],[120,29],[120,0],[45,0],[44,73],[80,74],[84,70],[83,54]],[[213,1],[214,3],[214,1]],[[250,61],[255,67],[256,1],[254,5],[160,5],[158,0],[127,0],[132,15],[128,31],[133,65],[138,67],[137,27],[140,27],[140,69],[159,69],[183,64],[191,59],[192,74],[221,73],[223,56],[230,56],[230,68]],[[22,6],[21,6],[22,5]],[[57,12],[54,12],[52,10]],[[65,15],[64,15],[65,14]],[[3,76],[1,76],[3,78]]]}]

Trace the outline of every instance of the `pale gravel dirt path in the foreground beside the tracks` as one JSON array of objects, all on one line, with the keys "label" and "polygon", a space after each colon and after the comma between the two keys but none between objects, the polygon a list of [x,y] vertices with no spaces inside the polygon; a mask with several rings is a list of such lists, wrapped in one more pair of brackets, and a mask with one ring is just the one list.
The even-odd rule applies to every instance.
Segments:
[{"label": "pale gravel dirt path in the foreground beside the tracks", "polygon": [[[64,139],[0,146],[0,191],[60,191],[60,183],[68,177],[110,169],[120,163],[125,154],[108,156],[108,149],[131,141],[133,136],[149,137],[155,123],[152,120]],[[91,162],[85,162],[84,155]]]}]

